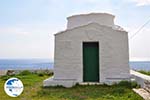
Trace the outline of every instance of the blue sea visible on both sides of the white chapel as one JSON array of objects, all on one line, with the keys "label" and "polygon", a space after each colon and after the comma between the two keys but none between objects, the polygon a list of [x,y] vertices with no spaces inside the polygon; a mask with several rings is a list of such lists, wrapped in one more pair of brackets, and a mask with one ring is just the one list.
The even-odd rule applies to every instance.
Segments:
[{"label": "blue sea visible on both sides of the white chapel", "polygon": [[[130,68],[150,71],[150,61],[131,61]],[[0,59],[0,70],[45,70],[53,69],[50,59]]]}]

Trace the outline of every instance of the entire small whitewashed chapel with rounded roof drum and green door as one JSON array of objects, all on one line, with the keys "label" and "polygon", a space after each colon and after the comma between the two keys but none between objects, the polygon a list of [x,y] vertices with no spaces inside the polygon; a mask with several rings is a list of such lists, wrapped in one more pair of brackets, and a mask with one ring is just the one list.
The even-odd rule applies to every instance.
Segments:
[{"label": "entire small whitewashed chapel with rounded roof drum and green door", "polygon": [[44,86],[129,80],[128,33],[106,13],[68,17],[67,29],[55,34],[54,77]]}]

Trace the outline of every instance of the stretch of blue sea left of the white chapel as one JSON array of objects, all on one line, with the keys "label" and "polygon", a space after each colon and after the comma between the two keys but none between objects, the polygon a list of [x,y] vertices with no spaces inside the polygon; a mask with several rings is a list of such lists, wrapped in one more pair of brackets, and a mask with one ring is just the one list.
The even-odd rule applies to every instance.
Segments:
[{"label": "stretch of blue sea left of the white chapel", "polygon": [[0,59],[0,70],[45,70],[53,66],[50,59]]}]

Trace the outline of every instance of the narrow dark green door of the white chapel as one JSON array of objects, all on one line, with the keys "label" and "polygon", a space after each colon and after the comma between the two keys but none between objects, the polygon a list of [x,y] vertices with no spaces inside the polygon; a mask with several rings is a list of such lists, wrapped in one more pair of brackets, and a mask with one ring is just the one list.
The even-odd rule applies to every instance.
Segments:
[{"label": "narrow dark green door of the white chapel", "polygon": [[99,82],[99,44],[83,43],[83,81]]}]

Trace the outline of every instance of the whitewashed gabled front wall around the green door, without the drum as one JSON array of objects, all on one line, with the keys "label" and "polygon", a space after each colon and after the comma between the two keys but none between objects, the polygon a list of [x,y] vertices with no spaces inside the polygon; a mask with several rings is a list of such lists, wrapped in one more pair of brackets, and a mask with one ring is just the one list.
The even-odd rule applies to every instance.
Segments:
[{"label": "whitewashed gabled front wall around the green door, without the drum", "polygon": [[83,82],[82,43],[99,41],[100,82],[129,79],[128,34],[91,23],[55,35],[54,79]]}]

